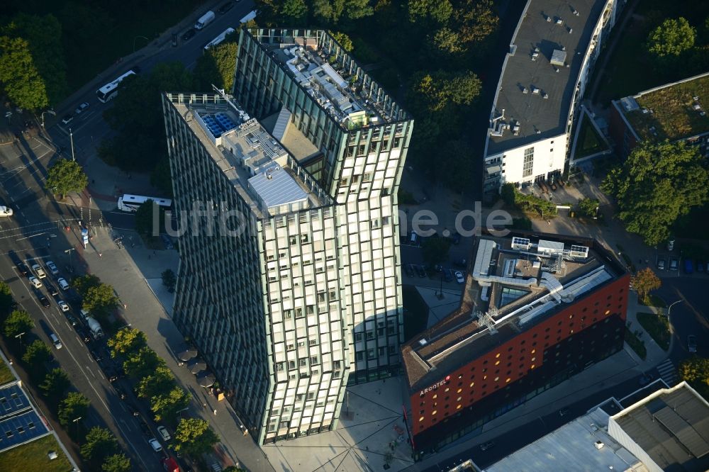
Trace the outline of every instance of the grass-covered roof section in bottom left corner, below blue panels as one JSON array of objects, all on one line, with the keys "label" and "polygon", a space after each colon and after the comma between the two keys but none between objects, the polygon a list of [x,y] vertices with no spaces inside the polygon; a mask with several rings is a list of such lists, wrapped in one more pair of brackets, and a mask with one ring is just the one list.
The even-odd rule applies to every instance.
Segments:
[{"label": "grass-covered roof section in bottom left corner, below blue panels", "polygon": [[[57,453],[57,459],[49,459],[47,454],[50,451]],[[0,453],[0,464],[4,472],[69,472],[72,470],[69,459],[52,434]]]}]

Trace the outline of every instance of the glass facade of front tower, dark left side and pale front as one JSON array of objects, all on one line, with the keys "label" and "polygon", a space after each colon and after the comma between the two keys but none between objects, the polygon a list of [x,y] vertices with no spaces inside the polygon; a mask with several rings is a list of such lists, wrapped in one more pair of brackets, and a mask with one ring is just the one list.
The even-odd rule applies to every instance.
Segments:
[{"label": "glass facade of front tower, dark left side and pale front", "polygon": [[[334,202],[288,156],[289,175],[301,178],[312,190],[308,201],[319,205],[297,211],[259,205],[232,168],[220,167],[225,149],[205,139],[193,118],[231,106],[214,94],[163,96],[174,210],[179,225],[189,219],[179,237],[173,319],[264,444],[334,429],[352,333]],[[205,230],[205,218],[195,223],[195,202],[199,209],[235,210],[238,230]]]}]

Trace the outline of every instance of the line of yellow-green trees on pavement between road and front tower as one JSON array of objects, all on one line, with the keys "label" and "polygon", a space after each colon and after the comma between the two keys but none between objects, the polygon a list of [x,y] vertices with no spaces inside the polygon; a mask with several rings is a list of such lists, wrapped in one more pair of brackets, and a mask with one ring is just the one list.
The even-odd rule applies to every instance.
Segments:
[{"label": "line of yellow-green trees on pavement between road and front tower", "polygon": [[[125,327],[108,339],[111,356],[123,359],[125,373],[136,381],[135,393],[147,399],[155,421],[175,424],[179,412],[187,408],[190,396],[177,385],[174,374],[164,359],[147,347],[145,333]],[[175,449],[184,454],[200,456],[220,441],[208,422],[182,418],[175,429]]]}]

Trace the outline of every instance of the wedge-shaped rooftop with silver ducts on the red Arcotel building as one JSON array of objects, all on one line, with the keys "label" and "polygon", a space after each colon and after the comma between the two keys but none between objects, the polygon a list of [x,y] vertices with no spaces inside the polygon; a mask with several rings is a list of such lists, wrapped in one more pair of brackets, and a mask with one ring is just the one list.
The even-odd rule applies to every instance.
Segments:
[{"label": "wedge-shaped rooftop with silver ducts on the red Arcotel building", "polygon": [[460,307],[402,349],[411,390],[503,344],[625,273],[593,240],[557,235],[484,236],[476,240],[473,251]]}]

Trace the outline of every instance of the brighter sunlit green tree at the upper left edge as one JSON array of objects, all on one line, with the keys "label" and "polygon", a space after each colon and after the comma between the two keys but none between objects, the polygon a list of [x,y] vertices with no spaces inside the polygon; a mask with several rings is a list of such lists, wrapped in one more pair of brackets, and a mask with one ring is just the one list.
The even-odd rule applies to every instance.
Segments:
[{"label": "brighter sunlit green tree at the upper left edge", "polygon": [[21,108],[38,111],[49,105],[47,87],[23,38],[0,36],[0,83]]}]

